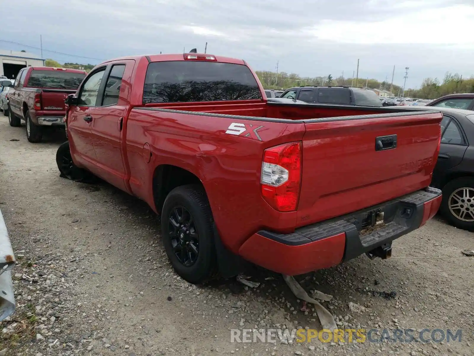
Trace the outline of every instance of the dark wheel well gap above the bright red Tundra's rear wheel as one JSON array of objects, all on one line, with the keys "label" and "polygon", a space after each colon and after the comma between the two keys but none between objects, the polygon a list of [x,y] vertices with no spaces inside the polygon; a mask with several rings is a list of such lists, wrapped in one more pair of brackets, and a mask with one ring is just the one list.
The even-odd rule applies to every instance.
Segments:
[{"label": "dark wheel well gap above the bright red Tundra's rear wheel", "polygon": [[189,170],[163,164],[156,167],[153,174],[153,199],[156,210],[161,212],[164,199],[174,188],[186,184],[201,184],[201,180]]}]

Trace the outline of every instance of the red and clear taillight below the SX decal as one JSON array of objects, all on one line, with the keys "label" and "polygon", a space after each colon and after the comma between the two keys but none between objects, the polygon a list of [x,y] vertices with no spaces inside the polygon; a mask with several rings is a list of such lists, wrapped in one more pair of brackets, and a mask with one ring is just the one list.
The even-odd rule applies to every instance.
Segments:
[{"label": "red and clear taillight below the SX decal", "polygon": [[296,210],[301,185],[301,142],[266,149],[260,183],[262,197],[274,209]]}]

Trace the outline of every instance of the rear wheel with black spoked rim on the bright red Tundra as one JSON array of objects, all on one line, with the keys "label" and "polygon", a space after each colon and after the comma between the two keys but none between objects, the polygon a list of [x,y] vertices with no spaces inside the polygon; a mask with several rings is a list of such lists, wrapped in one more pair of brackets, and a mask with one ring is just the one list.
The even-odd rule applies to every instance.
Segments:
[{"label": "rear wheel with black spoked rim on the bright red Tundra", "polygon": [[163,244],[174,270],[196,284],[209,279],[216,266],[212,214],[199,185],[174,188],[164,200]]}]

